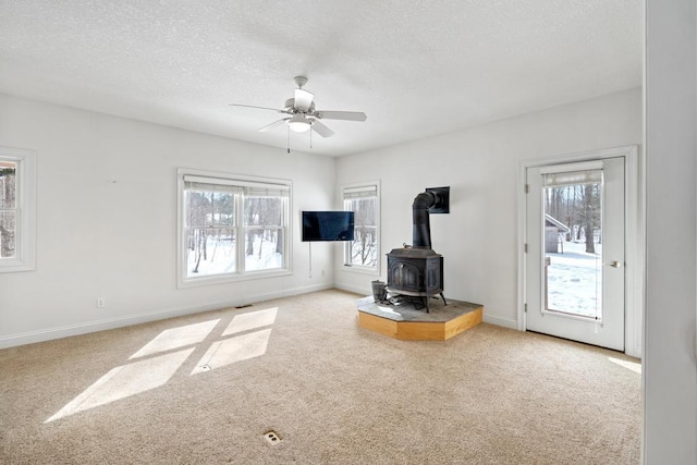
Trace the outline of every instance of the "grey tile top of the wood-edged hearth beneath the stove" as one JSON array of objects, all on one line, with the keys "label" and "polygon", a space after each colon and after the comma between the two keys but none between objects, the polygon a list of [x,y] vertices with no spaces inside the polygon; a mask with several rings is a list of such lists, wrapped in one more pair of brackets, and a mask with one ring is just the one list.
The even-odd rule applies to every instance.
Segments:
[{"label": "grey tile top of the wood-edged hearth beneath the stove", "polygon": [[430,313],[427,313],[426,309],[416,309],[412,304],[376,303],[372,296],[368,296],[358,299],[358,311],[394,321],[447,322],[466,313],[481,308],[479,304],[448,299],[448,297],[445,299],[448,305],[444,305],[441,298],[431,298],[429,303]]}]

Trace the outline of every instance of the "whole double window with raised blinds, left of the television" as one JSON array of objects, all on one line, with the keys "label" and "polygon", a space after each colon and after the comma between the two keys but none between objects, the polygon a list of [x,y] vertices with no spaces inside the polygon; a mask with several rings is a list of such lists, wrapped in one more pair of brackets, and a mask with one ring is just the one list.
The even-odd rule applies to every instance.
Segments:
[{"label": "whole double window with raised blinds, left of the television", "polygon": [[180,170],[180,285],[286,274],[290,182]]}]

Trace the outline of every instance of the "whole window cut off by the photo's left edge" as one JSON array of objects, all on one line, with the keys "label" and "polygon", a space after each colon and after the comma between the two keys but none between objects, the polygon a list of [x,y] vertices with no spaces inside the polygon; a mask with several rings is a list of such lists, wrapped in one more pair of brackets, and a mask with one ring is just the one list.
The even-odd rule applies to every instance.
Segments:
[{"label": "whole window cut off by the photo's left edge", "polygon": [[0,147],[0,272],[36,268],[36,156]]}]

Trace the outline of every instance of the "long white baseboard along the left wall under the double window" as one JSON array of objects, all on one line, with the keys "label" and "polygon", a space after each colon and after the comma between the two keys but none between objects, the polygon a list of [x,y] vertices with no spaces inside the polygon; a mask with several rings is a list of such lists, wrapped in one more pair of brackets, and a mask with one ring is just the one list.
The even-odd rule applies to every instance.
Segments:
[{"label": "long white baseboard along the left wall under the double window", "polygon": [[133,325],[140,325],[150,321],[163,320],[167,318],[181,317],[185,315],[200,314],[204,311],[218,310],[220,308],[236,307],[240,305],[252,304],[255,302],[270,301],[273,298],[290,297],[298,294],[307,294],[309,292],[325,291],[333,289],[330,283],[317,284],[305,287],[288,289],[280,292],[271,292],[254,296],[247,296],[242,299],[218,301],[203,303],[195,306],[166,308],[145,314],[131,315],[127,317],[109,318],[96,321],[88,321],[80,325],[69,325],[57,328],[49,328],[38,331],[29,331],[20,334],[10,334],[0,336],[0,348],[15,347],[19,345],[34,344],[36,342],[51,341],[54,339],[69,338],[72,335],[87,334],[90,332],[105,331],[109,329],[123,328]]}]

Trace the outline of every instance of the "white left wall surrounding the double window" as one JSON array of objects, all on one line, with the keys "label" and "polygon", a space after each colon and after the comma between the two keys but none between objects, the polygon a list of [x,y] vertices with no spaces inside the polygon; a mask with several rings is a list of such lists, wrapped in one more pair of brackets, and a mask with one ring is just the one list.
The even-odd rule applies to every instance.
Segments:
[{"label": "white left wall surrounding the double window", "polygon": [[[3,95],[0,146],[38,166],[37,269],[0,274],[0,347],[333,284],[330,245],[308,277],[298,221],[333,206],[333,158]],[[178,167],[292,180],[294,273],[178,290]]]}]

